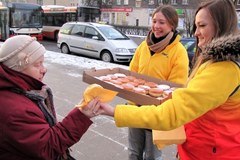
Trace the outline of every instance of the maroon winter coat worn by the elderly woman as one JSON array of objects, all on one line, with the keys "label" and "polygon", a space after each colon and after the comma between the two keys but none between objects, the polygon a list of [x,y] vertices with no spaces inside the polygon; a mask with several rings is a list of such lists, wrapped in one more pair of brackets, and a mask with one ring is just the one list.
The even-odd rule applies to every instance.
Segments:
[{"label": "maroon winter coat worn by the elderly woman", "polygon": [[6,89],[38,90],[43,85],[0,65],[0,160],[54,160],[78,142],[92,124],[75,108],[50,127],[34,102]]}]

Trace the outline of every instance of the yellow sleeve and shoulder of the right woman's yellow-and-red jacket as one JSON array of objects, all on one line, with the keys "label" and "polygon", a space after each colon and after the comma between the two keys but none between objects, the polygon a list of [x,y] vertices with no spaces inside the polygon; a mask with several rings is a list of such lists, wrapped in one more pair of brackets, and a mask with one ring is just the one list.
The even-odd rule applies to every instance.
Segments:
[{"label": "yellow sleeve and shoulder of the right woman's yellow-and-red jacket", "polygon": [[171,130],[224,103],[229,105],[226,109],[240,111],[240,90],[229,98],[239,84],[240,72],[234,62],[205,63],[186,88],[175,90],[172,99],[159,106],[117,105],[115,122],[118,127]]}]

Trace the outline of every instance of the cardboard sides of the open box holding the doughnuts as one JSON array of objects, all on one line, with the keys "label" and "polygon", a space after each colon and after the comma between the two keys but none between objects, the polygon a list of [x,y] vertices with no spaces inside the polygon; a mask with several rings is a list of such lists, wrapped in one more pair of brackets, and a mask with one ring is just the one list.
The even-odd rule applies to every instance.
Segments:
[{"label": "cardboard sides of the open box holding the doughnuts", "polygon": [[136,78],[141,78],[141,79],[144,79],[146,81],[155,82],[157,84],[167,84],[170,87],[181,87],[182,86],[180,84],[171,83],[169,81],[162,81],[162,80],[159,80],[157,78],[145,76],[145,75],[138,74],[138,73],[135,73],[135,72],[131,72],[129,70],[122,69],[122,68],[99,69],[99,70],[96,70],[96,69],[93,68],[93,69],[85,70],[83,72],[83,82],[86,82],[86,83],[89,83],[89,84],[96,83],[96,84],[99,84],[106,89],[117,91],[118,92],[117,96],[119,96],[121,98],[124,98],[126,100],[129,100],[129,101],[132,101],[132,102],[136,103],[137,105],[159,105],[163,101],[166,100],[166,99],[157,99],[157,98],[151,97],[149,95],[142,95],[142,94],[138,94],[138,93],[135,93],[135,92],[132,92],[132,91],[120,89],[120,88],[118,88],[118,87],[116,87],[112,84],[103,82],[103,81],[96,78],[96,77],[99,77],[99,76],[114,74],[114,73],[123,73],[127,76],[134,76]]}]

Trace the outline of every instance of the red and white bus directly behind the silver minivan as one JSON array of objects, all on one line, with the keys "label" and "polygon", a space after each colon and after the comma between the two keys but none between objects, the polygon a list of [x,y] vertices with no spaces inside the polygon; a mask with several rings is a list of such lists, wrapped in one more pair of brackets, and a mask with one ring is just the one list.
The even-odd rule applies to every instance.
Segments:
[{"label": "red and white bus directly behind the silver minivan", "polygon": [[57,40],[60,27],[70,21],[98,22],[100,8],[89,6],[66,7],[46,5],[43,9],[43,37]]}]

